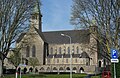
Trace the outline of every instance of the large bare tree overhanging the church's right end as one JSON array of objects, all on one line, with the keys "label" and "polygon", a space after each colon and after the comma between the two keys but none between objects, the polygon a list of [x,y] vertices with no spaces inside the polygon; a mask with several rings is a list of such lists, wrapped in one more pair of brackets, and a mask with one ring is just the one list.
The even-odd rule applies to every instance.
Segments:
[{"label": "large bare tree overhanging the church's right end", "polygon": [[96,40],[102,50],[120,51],[120,0],[73,0],[71,24],[88,28],[98,27]]}]

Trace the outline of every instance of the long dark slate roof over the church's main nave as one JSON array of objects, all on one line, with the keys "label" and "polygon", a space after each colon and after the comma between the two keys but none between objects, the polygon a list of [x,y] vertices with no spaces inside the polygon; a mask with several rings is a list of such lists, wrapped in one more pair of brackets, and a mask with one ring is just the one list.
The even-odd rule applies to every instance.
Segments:
[{"label": "long dark slate roof over the church's main nave", "polygon": [[62,36],[66,34],[71,37],[71,43],[89,43],[90,35],[89,30],[67,30],[67,31],[52,31],[43,32],[46,42],[49,44],[69,44],[68,37]]}]

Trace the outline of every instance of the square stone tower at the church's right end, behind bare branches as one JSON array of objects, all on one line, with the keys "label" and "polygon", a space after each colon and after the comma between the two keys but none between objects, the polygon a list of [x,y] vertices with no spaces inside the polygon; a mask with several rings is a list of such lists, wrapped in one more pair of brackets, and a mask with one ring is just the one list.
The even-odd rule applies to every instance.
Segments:
[{"label": "square stone tower at the church's right end, behind bare branches", "polygon": [[90,32],[90,56],[92,58],[91,64],[96,65],[98,64],[98,42],[97,42],[97,31],[98,28],[96,25],[92,25],[89,27]]}]

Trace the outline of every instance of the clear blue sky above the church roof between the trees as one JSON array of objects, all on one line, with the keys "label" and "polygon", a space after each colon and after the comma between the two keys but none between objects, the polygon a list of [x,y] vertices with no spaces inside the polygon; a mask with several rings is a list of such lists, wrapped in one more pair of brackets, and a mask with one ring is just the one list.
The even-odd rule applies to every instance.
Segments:
[{"label": "clear blue sky above the church roof between the trees", "polygon": [[41,0],[42,30],[72,30],[70,24],[72,0]]}]

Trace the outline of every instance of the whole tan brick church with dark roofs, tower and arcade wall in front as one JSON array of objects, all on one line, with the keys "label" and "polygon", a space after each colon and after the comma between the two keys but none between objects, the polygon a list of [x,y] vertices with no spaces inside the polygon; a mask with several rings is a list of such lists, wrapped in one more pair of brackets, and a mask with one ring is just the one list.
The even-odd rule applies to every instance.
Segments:
[{"label": "whole tan brick church with dark roofs, tower and arcade wall in front", "polygon": [[21,54],[28,70],[31,57],[38,59],[38,72],[70,72],[71,64],[74,73],[95,73],[97,68],[104,66],[99,43],[95,40],[97,26],[42,32],[41,20],[41,13],[34,11],[29,31],[22,33],[17,40],[16,45],[22,45]]}]

